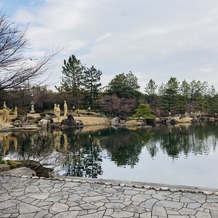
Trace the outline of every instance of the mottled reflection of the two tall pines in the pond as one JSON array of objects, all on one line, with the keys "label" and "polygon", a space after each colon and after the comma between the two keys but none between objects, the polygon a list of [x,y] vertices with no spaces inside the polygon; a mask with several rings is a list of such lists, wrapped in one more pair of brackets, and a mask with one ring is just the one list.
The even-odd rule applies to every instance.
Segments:
[{"label": "mottled reflection of the two tall pines in the pond", "polygon": [[66,175],[97,178],[102,174],[99,139],[91,134],[68,135],[69,150],[64,163]]}]

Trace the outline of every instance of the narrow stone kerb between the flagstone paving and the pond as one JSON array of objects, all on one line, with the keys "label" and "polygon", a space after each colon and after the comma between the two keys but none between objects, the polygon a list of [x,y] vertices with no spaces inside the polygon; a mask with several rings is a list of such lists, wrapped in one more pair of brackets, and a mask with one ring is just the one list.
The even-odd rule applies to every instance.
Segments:
[{"label": "narrow stone kerb between the flagstone paving and the pond", "polygon": [[38,176],[26,176],[26,175],[13,175],[13,174],[3,174],[0,173],[2,177],[19,177],[27,179],[44,179],[44,180],[58,180],[66,182],[79,182],[79,183],[96,183],[104,185],[118,185],[121,187],[133,187],[133,188],[145,188],[153,189],[156,191],[171,191],[171,192],[189,192],[189,193],[202,193],[205,195],[216,195],[218,196],[218,189],[212,188],[202,188],[194,186],[177,186],[170,184],[159,184],[159,183],[145,183],[145,182],[135,182],[126,180],[112,180],[112,179],[101,179],[101,178],[83,178],[83,177],[72,177],[72,176],[53,176],[49,178],[38,177]]}]

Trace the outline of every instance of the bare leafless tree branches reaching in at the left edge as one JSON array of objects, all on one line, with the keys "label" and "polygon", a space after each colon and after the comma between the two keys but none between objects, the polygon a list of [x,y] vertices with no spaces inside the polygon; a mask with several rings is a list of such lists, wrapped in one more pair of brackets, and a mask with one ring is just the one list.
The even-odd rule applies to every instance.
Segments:
[{"label": "bare leafless tree branches reaching in at the left edge", "polygon": [[24,57],[28,42],[26,29],[15,25],[0,11],[0,91],[16,88],[35,79],[47,70],[49,60],[58,52],[42,60]]}]

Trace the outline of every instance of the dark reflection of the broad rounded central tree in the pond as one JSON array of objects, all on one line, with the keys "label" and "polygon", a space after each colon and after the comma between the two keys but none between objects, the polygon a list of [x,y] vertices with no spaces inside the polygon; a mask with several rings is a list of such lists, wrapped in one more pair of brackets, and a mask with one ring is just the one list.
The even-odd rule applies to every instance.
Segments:
[{"label": "dark reflection of the broad rounded central tree in the pond", "polygon": [[150,140],[152,133],[144,130],[130,131],[128,129],[111,130],[108,137],[100,140],[111,154],[111,159],[118,166],[134,167],[139,161],[142,147]]}]

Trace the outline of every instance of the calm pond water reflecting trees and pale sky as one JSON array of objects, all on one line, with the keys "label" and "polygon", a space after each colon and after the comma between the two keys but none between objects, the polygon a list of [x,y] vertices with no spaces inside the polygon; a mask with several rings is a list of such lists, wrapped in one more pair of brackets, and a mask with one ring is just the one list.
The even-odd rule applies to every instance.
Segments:
[{"label": "calm pond water reflecting trees and pale sky", "polygon": [[54,174],[218,188],[218,124],[0,133],[0,159]]}]

